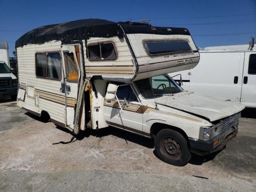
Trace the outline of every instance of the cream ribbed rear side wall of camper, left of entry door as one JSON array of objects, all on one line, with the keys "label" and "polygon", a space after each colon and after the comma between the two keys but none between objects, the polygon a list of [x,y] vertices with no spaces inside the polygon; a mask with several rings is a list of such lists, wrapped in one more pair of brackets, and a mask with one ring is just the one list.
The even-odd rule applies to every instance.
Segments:
[{"label": "cream ribbed rear side wall of camper, left of entry door", "polygon": [[[19,88],[26,90],[24,102],[18,100],[17,105],[37,114],[44,110],[52,120],[65,124],[65,94],[60,90],[63,74],[61,80],[37,78],[35,63],[36,52],[60,52],[60,44],[58,41],[17,48]],[[39,95],[38,106],[34,94]]]}]

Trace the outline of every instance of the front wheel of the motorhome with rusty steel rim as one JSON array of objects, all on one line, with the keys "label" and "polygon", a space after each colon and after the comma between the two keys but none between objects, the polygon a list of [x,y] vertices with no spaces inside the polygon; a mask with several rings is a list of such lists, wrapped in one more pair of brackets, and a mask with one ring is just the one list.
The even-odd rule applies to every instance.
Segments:
[{"label": "front wheel of the motorhome with rusty steel rim", "polygon": [[156,134],[155,149],[162,161],[175,166],[184,166],[191,158],[184,136],[171,129],[162,129]]}]

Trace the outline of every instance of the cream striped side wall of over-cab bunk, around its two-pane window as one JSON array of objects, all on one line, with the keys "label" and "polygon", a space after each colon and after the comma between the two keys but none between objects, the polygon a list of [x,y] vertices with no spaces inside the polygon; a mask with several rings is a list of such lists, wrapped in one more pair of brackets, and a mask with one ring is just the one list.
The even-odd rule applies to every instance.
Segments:
[{"label": "cream striped side wall of over-cab bunk, around its two-pane window", "polygon": [[99,44],[102,42],[113,42],[116,48],[117,57],[115,60],[94,60],[90,61],[86,55],[86,45],[83,40],[84,61],[86,77],[102,76],[103,79],[115,79],[130,81],[135,74],[136,66],[132,61],[132,54],[124,38],[90,38],[87,45]]}]

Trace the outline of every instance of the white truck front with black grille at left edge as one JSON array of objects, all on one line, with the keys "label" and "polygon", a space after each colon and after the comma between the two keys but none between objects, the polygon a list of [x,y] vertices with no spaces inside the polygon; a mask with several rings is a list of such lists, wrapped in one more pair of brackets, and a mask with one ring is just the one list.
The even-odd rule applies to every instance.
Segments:
[{"label": "white truck front with black grille at left edge", "polygon": [[10,96],[13,100],[17,97],[18,80],[10,68],[0,61],[0,97]]}]

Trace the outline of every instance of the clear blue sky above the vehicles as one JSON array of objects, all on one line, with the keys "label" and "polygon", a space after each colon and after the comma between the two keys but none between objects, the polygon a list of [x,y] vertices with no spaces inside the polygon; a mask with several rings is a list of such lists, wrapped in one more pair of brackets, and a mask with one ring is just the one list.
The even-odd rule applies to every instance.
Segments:
[{"label": "clear blue sky above the vehicles", "polygon": [[202,48],[248,44],[256,36],[256,0],[0,0],[0,8],[0,41],[8,42],[10,56],[28,30],[84,18],[151,19],[154,26],[186,27]]}]

